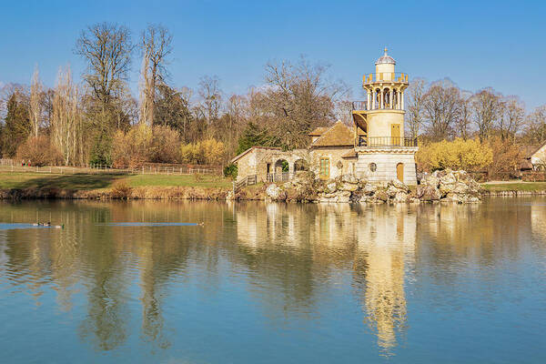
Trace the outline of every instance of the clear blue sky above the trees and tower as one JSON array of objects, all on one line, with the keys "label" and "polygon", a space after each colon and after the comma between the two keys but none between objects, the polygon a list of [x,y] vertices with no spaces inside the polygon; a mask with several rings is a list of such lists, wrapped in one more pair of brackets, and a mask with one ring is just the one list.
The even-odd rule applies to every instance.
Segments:
[{"label": "clear blue sky above the trees and tower", "polygon": [[[546,104],[546,2],[541,1],[18,1],[2,5],[0,82],[28,84],[35,64],[47,86],[59,66],[76,78],[84,63],[73,54],[79,32],[96,22],[127,25],[134,38],[147,23],[174,35],[169,66],[174,86],[196,87],[217,75],[223,90],[246,93],[263,83],[269,60],[310,60],[360,97],[364,73],[384,46],[397,70],[429,80],[450,77],[475,91],[492,86]],[[140,60],[131,76],[136,90]]]}]

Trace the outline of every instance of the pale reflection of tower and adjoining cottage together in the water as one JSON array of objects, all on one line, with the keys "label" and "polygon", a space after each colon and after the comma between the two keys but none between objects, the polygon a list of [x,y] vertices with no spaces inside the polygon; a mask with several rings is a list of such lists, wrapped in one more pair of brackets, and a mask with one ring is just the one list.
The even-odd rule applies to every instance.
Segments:
[{"label": "pale reflection of tower and adjoining cottage together in the water", "polygon": [[[331,265],[351,267],[364,321],[385,353],[406,326],[404,280],[414,264],[416,214],[409,206],[236,208],[238,241],[257,256],[275,250],[299,255],[300,263],[307,257],[315,263],[309,275],[315,276]],[[302,265],[294,269],[294,276],[305,277]]]}]

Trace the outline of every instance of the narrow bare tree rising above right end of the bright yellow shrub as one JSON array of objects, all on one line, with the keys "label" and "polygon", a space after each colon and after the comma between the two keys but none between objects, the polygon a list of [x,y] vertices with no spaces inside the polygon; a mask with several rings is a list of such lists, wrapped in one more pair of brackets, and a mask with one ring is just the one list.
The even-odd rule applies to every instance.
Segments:
[{"label": "narrow bare tree rising above right end of the bright yellow shrub", "polygon": [[492,88],[484,88],[472,97],[474,121],[478,126],[478,136],[483,141],[490,136],[494,122],[501,108],[500,96]]}]

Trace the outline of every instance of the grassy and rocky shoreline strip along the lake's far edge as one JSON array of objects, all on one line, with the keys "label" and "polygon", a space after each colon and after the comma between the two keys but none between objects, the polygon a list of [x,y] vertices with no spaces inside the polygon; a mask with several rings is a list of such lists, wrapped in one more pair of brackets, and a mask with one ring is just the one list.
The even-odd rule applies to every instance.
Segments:
[{"label": "grassy and rocky shoreline strip along the lake's far edge", "polygon": [[[449,176],[448,176],[449,175]],[[436,176],[436,177],[434,177]],[[274,185],[274,186],[272,186]],[[440,186],[441,185],[441,186]],[[493,181],[478,184],[466,173],[446,170],[424,185],[369,184],[351,176],[329,181],[300,174],[288,184],[265,184],[233,190],[231,180],[210,176],[40,175],[0,173],[0,199],[86,200],[286,200],[288,202],[420,203],[448,199],[473,203],[483,197],[546,196],[546,182]]]}]

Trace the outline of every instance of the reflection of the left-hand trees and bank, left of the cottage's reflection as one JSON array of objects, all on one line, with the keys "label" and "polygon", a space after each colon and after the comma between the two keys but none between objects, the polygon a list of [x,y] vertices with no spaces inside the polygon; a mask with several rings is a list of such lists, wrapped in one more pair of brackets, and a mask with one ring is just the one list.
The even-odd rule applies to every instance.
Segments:
[{"label": "reflection of the left-hand trees and bank, left of the cottage's reflection", "polygon": [[[220,207],[220,208],[217,208]],[[207,221],[213,228],[106,227],[109,221]],[[174,275],[183,275],[189,257],[207,261],[211,288],[217,284],[218,233],[230,214],[222,205],[210,209],[199,203],[103,203],[60,201],[5,204],[0,221],[36,220],[64,223],[66,228],[6,230],[4,269],[8,281],[24,284],[39,299],[45,285],[57,292],[59,306],[72,309],[76,283],[86,288],[86,318],[82,339],[96,349],[116,349],[126,341],[128,298],[135,272],[139,275],[142,303],[142,337],[165,348],[162,305]],[[136,269],[135,269],[136,268]],[[53,283],[53,284],[52,284]],[[38,301],[39,302],[39,301]]]}]

